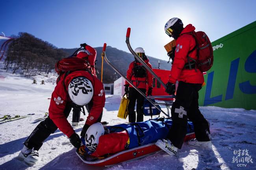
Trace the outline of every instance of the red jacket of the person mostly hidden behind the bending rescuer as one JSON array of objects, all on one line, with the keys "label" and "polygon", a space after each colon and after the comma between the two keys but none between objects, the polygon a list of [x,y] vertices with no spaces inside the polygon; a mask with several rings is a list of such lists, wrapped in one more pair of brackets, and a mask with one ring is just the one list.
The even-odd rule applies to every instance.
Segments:
[{"label": "red jacket of the person mostly hidden behind the bending rescuer", "polygon": [[89,55],[87,53],[79,53],[76,57],[78,57],[78,58],[84,58],[84,57],[88,58],[87,60],[89,61],[89,64],[91,65],[91,68],[92,68],[92,74],[96,76],[96,71],[95,71],[94,64],[95,64],[95,59],[96,59],[97,52],[94,48],[92,48],[89,45],[85,46],[85,49],[89,52]]}]

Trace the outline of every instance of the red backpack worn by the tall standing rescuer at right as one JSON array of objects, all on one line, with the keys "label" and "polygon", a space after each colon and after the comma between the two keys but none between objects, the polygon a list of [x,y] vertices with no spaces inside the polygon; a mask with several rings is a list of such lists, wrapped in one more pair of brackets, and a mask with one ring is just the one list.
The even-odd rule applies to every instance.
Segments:
[{"label": "red backpack worn by the tall standing rescuer at right", "polygon": [[189,69],[191,69],[192,65],[190,60],[193,60],[200,71],[208,71],[213,65],[213,49],[208,36],[203,31],[192,31],[186,34],[192,35],[196,42],[195,48],[189,51],[189,53],[197,49],[197,60],[187,56]]}]

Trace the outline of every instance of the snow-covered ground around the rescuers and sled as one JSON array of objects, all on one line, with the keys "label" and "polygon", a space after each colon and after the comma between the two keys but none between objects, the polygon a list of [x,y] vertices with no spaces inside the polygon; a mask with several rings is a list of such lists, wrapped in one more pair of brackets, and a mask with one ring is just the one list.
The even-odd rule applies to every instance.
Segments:
[{"label": "snow-covered ground around the rescuers and sled", "polygon": [[[37,84],[32,84],[33,79]],[[160,151],[143,159],[121,163],[111,167],[85,165],[75,154],[69,139],[59,130],[46,139],[39,150],[40,161],[28,166],[17,156],[22,143],[39,122],[35,119],[48,112],[51,93],[55,85],[55,75],[43,75],[34,78],[12,75],[0,69],[0,117],[27,115],[24,119],[0,124],[0,170],[255,170],[256,169],[256,111],[241,108],[226,109],[219,107],[200,107],[201,112],[210,121],[213,148],[196,148],[184,143],[177,156],[163,156]],[[45,80],[45,85],[41,85]],[[127,120],[117,117],[121,97],[106,95],[106,104],[102,121],[109,125],[125,123]],[[166,109],[163,109],[166,111]],[[81,116],[82,117],[82,116]],[[85,118],[85,117],[84,117]],[[144,120],[150,117],[144,117]],[[71,122],[72,113],[68,120]],[[76,132],[80,134],[84,121],[80,122]],[[245,150],[239,155],[237,150]],[[234,154],[235,153],[235,154]],[[247,153],[247,154],[246,154]],[[246,155],[245,155],[246,154]],[[248,160],[248,155],[250,159]],[[238,163],[232,163],[237,156]],[[240,162],[245,159],[244,163]],[[249,163],[248,163],[249,161]],[[253,163],[252,163],[253,162]],[[246,167],[238,167],[244,166]]]}]

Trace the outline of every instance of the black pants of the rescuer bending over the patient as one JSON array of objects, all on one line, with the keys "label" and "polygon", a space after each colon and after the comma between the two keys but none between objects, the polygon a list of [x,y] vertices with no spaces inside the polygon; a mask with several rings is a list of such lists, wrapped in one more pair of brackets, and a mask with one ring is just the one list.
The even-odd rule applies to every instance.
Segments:
[{"label": "black pants of the rescuer bending over the patient", "polygon": [[[92,107],[92,103],[86,105],[88,113],[90,112]],[[69,113],[72,109],[72,105],[67,104],[64,110],[65,117],[69,116]],[[102,113],[98,118],[97,122],[100,122],[102,118]],[[24,142],[24,145],[28,148],[34,148],[35,150],[39,150],[43,145],[43,142],[47,137],[50,136],[51,133],[54,133],[58,127],[54,124],[52,119],[48,116],[44,121],[41,121],[37,127],[33,130],[33,132],[29,135],[29,137]]]}]

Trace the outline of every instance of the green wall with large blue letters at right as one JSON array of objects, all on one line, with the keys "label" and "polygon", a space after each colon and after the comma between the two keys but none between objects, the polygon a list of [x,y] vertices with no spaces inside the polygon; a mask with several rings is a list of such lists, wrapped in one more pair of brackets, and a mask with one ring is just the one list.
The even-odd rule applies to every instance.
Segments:
[{"label": "green wall with large blue letters at right", "polygon": [[256,21],[214,42],[200,106],[256,110]]}]

